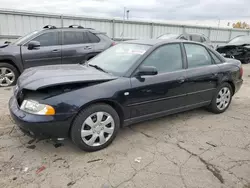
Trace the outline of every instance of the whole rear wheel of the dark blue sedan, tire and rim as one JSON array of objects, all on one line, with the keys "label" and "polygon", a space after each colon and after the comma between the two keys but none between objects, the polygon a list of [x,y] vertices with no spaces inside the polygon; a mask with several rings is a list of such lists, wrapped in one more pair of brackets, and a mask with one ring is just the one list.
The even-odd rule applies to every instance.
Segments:
[{"label": "whole rear wheel of the dark blue sedan, tire and rim", "polygon": [[223,83],[216,91],[209,109],[216,114],[226,111],[232,100],[232,87],[228,83]]}]

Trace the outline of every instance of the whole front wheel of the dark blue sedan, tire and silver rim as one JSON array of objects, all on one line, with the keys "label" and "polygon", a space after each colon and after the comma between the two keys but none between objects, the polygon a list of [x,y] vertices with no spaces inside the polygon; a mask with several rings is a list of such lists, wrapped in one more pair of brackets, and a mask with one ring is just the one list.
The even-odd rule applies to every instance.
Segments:
[{"label": "whole front wheel of the dark blue sedan, tire and silver rim", "polygon": [[71,138],[80,149],[97,151],[111,144],[119,127],[119,116],[111,106],[95,104],[77,115]]}]

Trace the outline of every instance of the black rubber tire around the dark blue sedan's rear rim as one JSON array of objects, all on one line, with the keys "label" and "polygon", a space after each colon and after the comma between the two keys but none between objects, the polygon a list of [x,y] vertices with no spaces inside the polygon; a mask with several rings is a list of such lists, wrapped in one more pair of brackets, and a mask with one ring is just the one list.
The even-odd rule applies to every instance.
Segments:
[{"label": "black rubber tire around the dark blue sedan's rear rim", "polygon": [[[224,109],[219,109],[217,107],[217,103],[216,103],[216,100],[217,100],[217,97],[219,95],[219,92],[221,91],[222,88],[228,88],[229,91],[230,91],[230,97],[229,97],[229,102],[228,102],[228,105],[224,108]],[[233,90],[232,90],[232,87],[229,83],[225,82],[223,84],[221,84],[216,92],[215,92],[215,95],[213,97],[213,100],[211,101],[210,105],[208,106],[208,109],[209,111],[215,113],[215,114],[220,114],[220,113],[223,113],[227,110],[227,108],[230,106],[231,104],[231,101],[232,101],[232,96],[233,96]]]}]

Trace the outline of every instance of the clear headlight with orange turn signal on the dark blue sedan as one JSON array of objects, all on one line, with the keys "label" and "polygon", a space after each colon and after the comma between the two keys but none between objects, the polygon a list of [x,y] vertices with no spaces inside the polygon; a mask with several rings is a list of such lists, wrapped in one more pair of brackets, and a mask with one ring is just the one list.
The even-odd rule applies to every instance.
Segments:
[{"label": "clear headlight with orange turn signal on the dark blue sedan", "polygon": [[24,100],[20,109],[37,115],[50,116],[55,114],[55,109],[52,106],[40,104],[39,102],[33,100]]}]

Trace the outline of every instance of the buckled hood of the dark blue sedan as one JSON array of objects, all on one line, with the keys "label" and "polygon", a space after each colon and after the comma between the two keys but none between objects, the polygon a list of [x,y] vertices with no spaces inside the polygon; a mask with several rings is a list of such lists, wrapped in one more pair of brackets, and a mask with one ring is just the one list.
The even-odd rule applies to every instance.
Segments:
[{"label": "buckled hood of the dark blue sedan", "polygon": [[51,86],[109,81],[116,78],[87,65],[50,65],[25,70],[17,84],[19,89],[38,90]]}]

